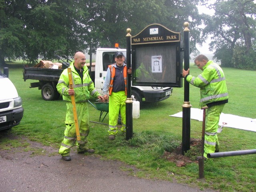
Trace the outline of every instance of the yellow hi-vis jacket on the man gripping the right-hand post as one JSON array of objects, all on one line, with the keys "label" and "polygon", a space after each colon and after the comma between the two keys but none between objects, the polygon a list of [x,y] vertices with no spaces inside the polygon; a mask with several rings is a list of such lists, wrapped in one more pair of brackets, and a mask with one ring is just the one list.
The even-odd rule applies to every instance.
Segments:
[{"label": "yellow hi-vis jacket on the man gripping the right-hand post", "polygon": [[218,64],[209,60],[203,67],[203,72],[197,77],[188,75],[187,82],[200,88],[200,107],[208,103],[228,99],[228,90],[224,72]]}]

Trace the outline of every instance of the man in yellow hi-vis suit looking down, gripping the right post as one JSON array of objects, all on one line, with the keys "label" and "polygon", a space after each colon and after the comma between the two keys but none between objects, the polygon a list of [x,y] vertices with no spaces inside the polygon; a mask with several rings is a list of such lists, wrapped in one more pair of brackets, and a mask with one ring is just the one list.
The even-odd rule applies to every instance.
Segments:
[{"label": "man in yellow hi-vis suit looking down, gripping the right post", "polygon": [[220,150],[217,130],[220,114],[228,102],[228,90],[224,72],[218,64],[208,60],[204,55],[197,56],[195,64],[203,71],[200,75],[193,77],[188,74],[188,69],[187,71],[183,70],[182,76],[186,78],[187,82],[200,88],[200,107],[208,106],[204,135],[204,159],[206,160],[208,153]]}]

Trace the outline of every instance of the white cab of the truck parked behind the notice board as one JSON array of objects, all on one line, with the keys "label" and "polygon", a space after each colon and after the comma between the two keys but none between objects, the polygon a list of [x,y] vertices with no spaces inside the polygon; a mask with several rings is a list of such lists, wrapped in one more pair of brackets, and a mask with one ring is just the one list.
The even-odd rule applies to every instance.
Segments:
[{"label": "white cab of the truck parked behind the notice board", "polygon": [[[100,94],[103,94],[103,84],[106,78],[108,65],[115,63],[115,52],[123,52],[126,56],[126,49],[118,48],[98,48],[96,51],[94,86]],[[172,94],[171,87],[150,87],[150,86],[132,86],[132,99],[142,102],[145,98],[146,102],[157,102],[167,99]]]}]

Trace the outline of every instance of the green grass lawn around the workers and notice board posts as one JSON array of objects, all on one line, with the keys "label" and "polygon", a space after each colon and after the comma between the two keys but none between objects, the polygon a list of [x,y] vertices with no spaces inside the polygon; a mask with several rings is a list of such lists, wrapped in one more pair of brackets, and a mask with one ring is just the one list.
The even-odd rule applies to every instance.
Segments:
[{"label": "green grass lawn around the workers and notice board posts", "polygon": [[[2,68],[0,68],[2,70]],[[26,136],[30,140],[59,148],[64,134],[66,104],[62,98],[56,101],[42,99],[41,91],[29,88],[34,80],[22,79],[22,66],[9,68],[9,78],[22,97],[24,118],[20,125],[8,132]],[[229,102],[223,113],[256,118],[256,71],[223,68],[228,86]],[[197,76],[200,70],[191,65],[190,74]],[[190,102],[199,106],[199,88],[190,86]],[[120,160],[136,166],[139,171],[131,175],[141,178],[162,179],[186,183],[203,189],[225,192],[252,192],[256,190],[256,154],[216,158],[204,164],[204,179],[198,179],[198,164],[192,162],[177,167],[174,162],[162,158],[164,150],[172,150],[182,140],[182,118],[170,117],[182,111],[184,88],[174,88],[172,96],[156,103],[143,103],[140,118],[133,120],[134,137],[126,141],[118,132],[116,140],[108,139],[108,126],[91,123],[88,146],[96,150],[101,158]],[[100,111],[88,104],[90,121],[99,121]],[[103,123],[108,124],[108,115]],[[191,138],[201,139],[202,122],[191,120]],[[218,135],[220,151],[256,148],[256,132],[224,128]],[[0,148],[14,147],[14,141],[6,140],[0,133]],[[16,143],[15,146],[18,144]],[[191,147],[191,151],[196,150]],[[188,152],[194,158],[200,155]],[[127,170],[126,170],[127,171]]]}]

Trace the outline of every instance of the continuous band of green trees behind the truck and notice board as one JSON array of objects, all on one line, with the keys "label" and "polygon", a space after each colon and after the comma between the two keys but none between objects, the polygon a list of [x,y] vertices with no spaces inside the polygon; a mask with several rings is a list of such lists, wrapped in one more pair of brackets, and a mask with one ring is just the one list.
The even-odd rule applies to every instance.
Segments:
[{"label": "continuous band of green trees behind the truck and notice board", "polygon": [[86,50],[89,44],[125,47],[126,29],[132,35],[158,23],[183,32],[190,22],[191,46],[196,50],[202,20],[199,0],[0,0],[0,64],[22,58],[26,62],[54,59]]}]

